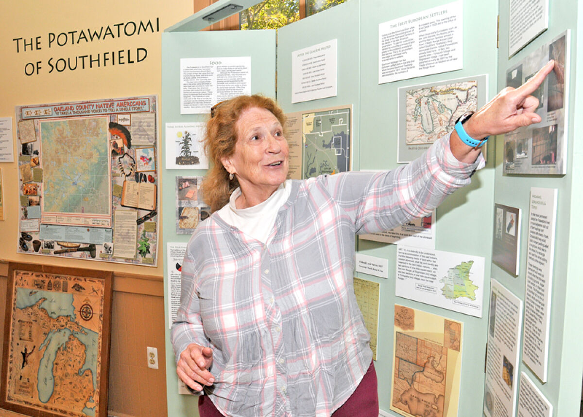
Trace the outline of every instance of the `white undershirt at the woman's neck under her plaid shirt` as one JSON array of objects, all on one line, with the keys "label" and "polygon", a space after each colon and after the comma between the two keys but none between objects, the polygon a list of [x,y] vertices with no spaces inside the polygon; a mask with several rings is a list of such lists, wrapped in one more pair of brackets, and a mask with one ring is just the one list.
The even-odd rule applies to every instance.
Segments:
[{"label": "white undershirt at the woman's neck under her plaid shirt", "polygon": [[[291,193],[291,180],[283,182],[277,190],[263,203],[259,203],[248,209],[237,209],[235,200],[241,195],[241,189],[237,188],[229,199],[229,204],[217,211],[217,214],[229,225],[238,228],[244,234],[268,244],[269,235],[273,231],[275,218],[279,209],[286,202]],[[270,239],[271,240],[271,239]]]}]

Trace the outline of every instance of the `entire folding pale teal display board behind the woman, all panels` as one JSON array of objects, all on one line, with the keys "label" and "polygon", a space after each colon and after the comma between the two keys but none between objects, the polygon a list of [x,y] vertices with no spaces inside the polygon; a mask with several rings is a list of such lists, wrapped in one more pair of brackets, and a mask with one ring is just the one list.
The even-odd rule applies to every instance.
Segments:
[{"label": "entire folding pale teal display board behind the woman, all panels", "polygon": [[[531,51],[571,30],[571,88],[568,123],[567,175],[528,176],[504,175],[503,138],[490,138],[486,150],[486,168],[477,172],[472,184],[449,196],[437,209],[436,249],[483,256],[486,259],[483,284],[484,305],[482,318],[444,310],[395,296],[396,246],[359,239],[358,252],[388,260],[388,279],[355,273],[355,276],[378,283],[380,309],[378,317],[377,360],[380,408],[389,411],[392,390],[394,305],[401,304],[443,316],[463,323],[461,392],[459,416],[481,416],[484,395],[484,359],[488,334],[490,277],[506,286],[517,297],[525,298],[526,239],[528,236],[529,190],[532,186],[559,190],[556,229],[554,283],[552,291],[551,332],[549,348],[549,377],[542,384],[523,363],[525,371],[554,407],[554,416],[576,415],[580,404],[583,356],[583,303],[580,296],[583,280],[578,275],[583,269],[583,224],[578,212],[583,204],[581,169],[583,152],[581,122],[574,117],[581,107],[583,95],[577,97],[580,81],[575,72],[578,58],[578,22],[583,16],[576,0],[553,1],[550,4],[549,30],[541,34],[510,60],[508,59],[508,8],[510,0],[459,2],[463,20],[463,64],[461,70],[426,75],[402,81],[378,84],[379,25],[436,6],[448,5],[447,0],[419,0],[397,2],[387,0],[350,0],[328,11],[302,19],[283,27],[278,32],[277,47],[273,32],[175,32],[163,35],[163,123],[203,121],[205,116],[180,114],[180,58],[251,56],[252,90],[275,96],[277,71],[277,99],[286,113],[304,112],[326,107],[350,105],[353,109],[352,169],[393,169],[399,166],[398,146],[398,90],[399,88],[439,83],[451,79],[487,78],[486,94],[490,99],[505,85],[508,68],[522,60]],[[497,47],[498,15],[500,48]],[[300,103],[292,103],[292,53],[319,43],[336,40],[338,44],[338,91],[335,96]],[[582,43],[583,44],[583,43]],[[277,58],[276,58],[277,57]],[[581,84],[581,82],[579,83]],[[163,131],[163,128],[161,129]],[[164,138],[163,147],[164,148]],[[175,235],[174,184],[177,175],[204,175],[203,171],[163,172],[163,226],[166,242],[185,242],[187,235]],[[520,207],[523,212],[521,273],[518,277],[491,263],[493,241],[494,203]],[[168,277],[165,277],[166,282]],[[168,294],[166,294],[168,296]],[[168,298],[166,297],[166,304]],[[166,317],[168,322],[168,317]],[[522,338],[522,335],[521,335]],[[167,342],[168,415],[195,416],[196,401],[176,394],[174,356]],[[559,389],[560,387],[560,389]]]}]

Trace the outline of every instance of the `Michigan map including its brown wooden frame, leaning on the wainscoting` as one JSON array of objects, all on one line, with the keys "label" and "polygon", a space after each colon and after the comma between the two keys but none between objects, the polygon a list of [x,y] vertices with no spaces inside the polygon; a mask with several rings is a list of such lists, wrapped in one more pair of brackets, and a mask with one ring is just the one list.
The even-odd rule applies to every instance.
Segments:
[{"label": "Michigan map including its brown wooden frame, leaning on the wainscoting", "polygon": [[9,264],[1,408],[107,416],[112,275]]}]

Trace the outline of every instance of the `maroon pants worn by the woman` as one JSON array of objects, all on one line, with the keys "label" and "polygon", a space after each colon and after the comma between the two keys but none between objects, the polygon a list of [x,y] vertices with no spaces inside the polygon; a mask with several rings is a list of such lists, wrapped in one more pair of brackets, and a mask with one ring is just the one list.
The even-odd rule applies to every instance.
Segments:
[{"label": "maroon pants worn by the woman", "polygon": [[[223,417],[208,395],[198,397],[198,413],[201,417]],[[374,370],[372,361],[359,386],[356,387],[356,391],[332,413],[332,417],[354,416],[378,417],[377,372]]]}]

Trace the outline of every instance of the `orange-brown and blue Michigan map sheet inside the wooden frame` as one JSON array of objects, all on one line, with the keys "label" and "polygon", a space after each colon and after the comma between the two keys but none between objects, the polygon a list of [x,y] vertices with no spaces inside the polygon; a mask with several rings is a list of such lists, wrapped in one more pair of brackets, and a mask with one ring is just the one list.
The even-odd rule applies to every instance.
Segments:
[{"label": "orange-brown and blue Michigan map sheet inside the wooden frame", "polygon": [[103,295],[90,278],[16,273],[7,402],[99,415]]}]

